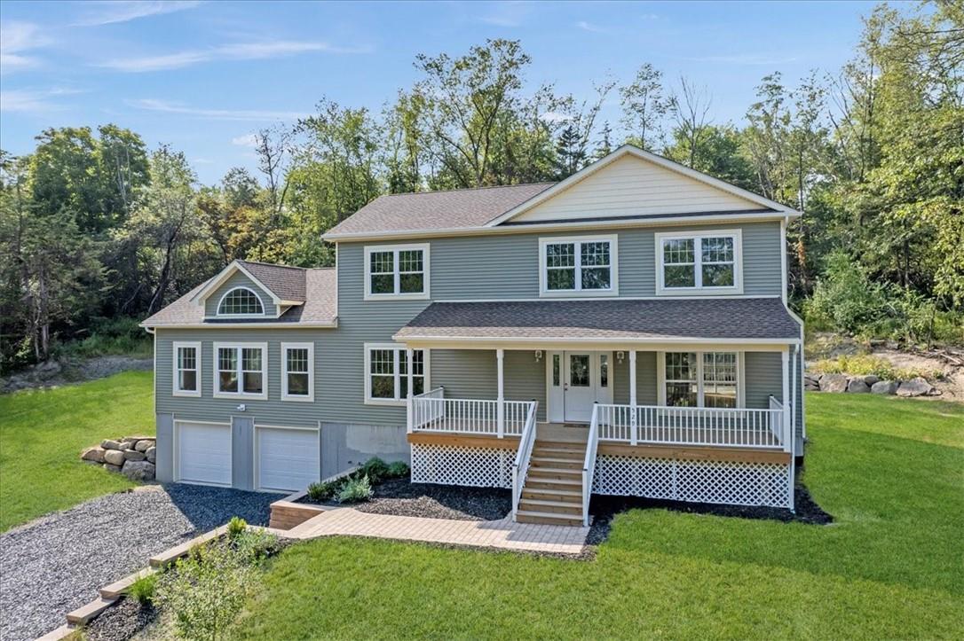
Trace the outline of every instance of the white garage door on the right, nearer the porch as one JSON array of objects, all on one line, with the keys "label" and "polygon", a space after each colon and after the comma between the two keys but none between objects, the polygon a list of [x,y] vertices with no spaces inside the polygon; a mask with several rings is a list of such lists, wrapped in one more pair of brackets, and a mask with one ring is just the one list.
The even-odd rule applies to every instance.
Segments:
[{"label": "white garage door on the right, nearer the porch", "polygon": [[318,430],[257,427],[257,486],[295,492],[319,480]]}]

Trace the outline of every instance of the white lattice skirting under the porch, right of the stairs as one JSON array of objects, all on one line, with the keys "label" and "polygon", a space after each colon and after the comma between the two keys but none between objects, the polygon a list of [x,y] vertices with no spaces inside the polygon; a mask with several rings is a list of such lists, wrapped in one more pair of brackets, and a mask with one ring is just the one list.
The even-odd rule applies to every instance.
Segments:
[{"label": "white lattice skirting under the porch, right of the stairs", "polygon": [[593,493],[790,507],[789,463],[736,463],[601,454]]}]

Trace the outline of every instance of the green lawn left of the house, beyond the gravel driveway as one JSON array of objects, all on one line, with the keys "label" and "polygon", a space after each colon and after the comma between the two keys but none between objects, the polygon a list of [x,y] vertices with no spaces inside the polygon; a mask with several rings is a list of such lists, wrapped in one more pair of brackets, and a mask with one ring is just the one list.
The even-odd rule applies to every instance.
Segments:
[{"label": "green lawn left of the house, beyond the gravel driveway", "polygon": [[80,461],[114,436],[153,434],[151,372],[0,396],[0,531],[132,487]]}]

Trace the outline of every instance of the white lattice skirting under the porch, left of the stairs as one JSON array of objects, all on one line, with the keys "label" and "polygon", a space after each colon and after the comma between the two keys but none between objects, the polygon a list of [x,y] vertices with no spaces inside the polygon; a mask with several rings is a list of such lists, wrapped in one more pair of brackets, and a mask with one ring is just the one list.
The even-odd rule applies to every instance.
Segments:
[{"label": "white lattice skirting under the porch, left of the stairs", "polygon": [[412,444],[412,482],[512,487],[511,449]]}]

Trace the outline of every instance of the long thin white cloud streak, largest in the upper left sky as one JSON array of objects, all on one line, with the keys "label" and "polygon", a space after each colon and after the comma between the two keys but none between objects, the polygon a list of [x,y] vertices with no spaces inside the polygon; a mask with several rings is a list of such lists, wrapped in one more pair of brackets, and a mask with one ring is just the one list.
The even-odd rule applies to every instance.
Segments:
[{"label": "long thin white cloud streak, largest in the upper left sky", "polygon": [[262,42],[242,42],[238,44],[224,44],[208,49],[194,49],[179,51],[161,56],[145,56],[142,58],[117,58],[98,66],[140,73],[143,71],[160,71],[163,69],[179,69],[192,64],[210,63],[215,61],[266,60],[280,58],[299,53],[320,51],[335,54],[368,53],[367,48],[337,47],[327,42],[308,42],[297,40],[275,40]]}]

